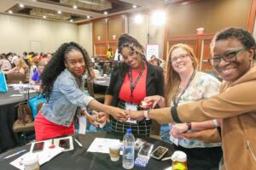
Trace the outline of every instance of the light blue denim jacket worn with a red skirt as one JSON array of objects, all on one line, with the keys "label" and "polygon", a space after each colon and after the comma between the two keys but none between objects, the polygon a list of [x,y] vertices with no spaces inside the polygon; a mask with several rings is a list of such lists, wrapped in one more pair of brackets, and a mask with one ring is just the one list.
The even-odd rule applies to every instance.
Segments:
[{"label": "light blue denim jacket worn with a red skirt", "polygon": [[[81,87],[84,87],[84,80]],[[79,88],[73,74],[65,69],[56,78],[49,101],[44,103],[40,112],[49,122],[69,127],[78,106],[84,108],[93,99]]]}]

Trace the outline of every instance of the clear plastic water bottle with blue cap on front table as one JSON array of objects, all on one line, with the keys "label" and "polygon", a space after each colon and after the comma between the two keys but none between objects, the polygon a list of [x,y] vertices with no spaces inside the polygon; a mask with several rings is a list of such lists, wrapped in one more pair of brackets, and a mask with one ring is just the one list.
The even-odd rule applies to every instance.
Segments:
[{"label": "clear plastic water bottle with blue cap on front table", "polygon": [[123,167],[125,169],[131,169],[134,166],[134,145],[135,139],[131,133],[131,129],[127,129],[124,139],[124,150],[123,150]]}]

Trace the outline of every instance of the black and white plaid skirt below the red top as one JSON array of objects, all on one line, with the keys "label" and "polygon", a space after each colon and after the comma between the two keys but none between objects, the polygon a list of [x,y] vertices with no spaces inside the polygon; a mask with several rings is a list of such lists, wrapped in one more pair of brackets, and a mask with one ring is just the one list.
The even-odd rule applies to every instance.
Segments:
[{"label": "black and white plaid skirt below the red top", "polygon": [[[119,101],[118,107],[121,109],[125,109],[125,101]],[[141,110],[139,105],[137,105],[137,110]],[[147,137],[151,132],[151,120],[144,119],[143,121],[137,121],[137,124],[135,124],[130,122],[119,122],[115,120],[113,116],[110,116],[110,122],[111,132],[118,135],[124,135],[126,133],[126,130],[129,128],[131,128],[132,134],[135,137]]]}]

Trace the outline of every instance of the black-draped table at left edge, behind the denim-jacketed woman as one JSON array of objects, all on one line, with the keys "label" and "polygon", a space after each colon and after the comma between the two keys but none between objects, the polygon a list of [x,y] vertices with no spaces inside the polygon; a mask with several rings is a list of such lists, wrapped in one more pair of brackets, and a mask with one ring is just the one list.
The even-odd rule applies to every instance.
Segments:
[{"label": "black-draped table at left edge, behind the denim-jacketed woman", "polygon": [[17,133],[13,131],[13,124],[18,118],[15,105],[27,99],[27,95],[11,97],[13,94],[19,94],[19,91],[10,87],[7,93],[0,94],[0,153],[15,147],[19,142]]}]

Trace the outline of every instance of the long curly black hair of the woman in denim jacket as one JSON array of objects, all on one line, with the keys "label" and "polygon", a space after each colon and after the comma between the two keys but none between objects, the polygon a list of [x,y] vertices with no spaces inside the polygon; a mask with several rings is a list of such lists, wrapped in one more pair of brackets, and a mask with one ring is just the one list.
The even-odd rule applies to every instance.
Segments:
[{"label": "long curly black hair of the woman in denim jacket", "polygon": [[[79,51],[81,54],[83,54],[86,69],[88,72],[90,72],[89,70],[92,67],[92,63],[87,51],[84,48],[82,48],[76,42],[66,42],[61,44],[61,47],[59,47],[55,51],[52,59],[49,60],[49,63],[44,68],[44,72],[40,76],[42,80],[41,88],[43,88],[43,94],[45,94],[45,97],[47,100],[49,100],[49,96],[52,92],[55,79],[66,68],[65,66],[66,54],[70,53],[73,50]],[[90,74],[89,74],[89,77],[90,77]]]}]

